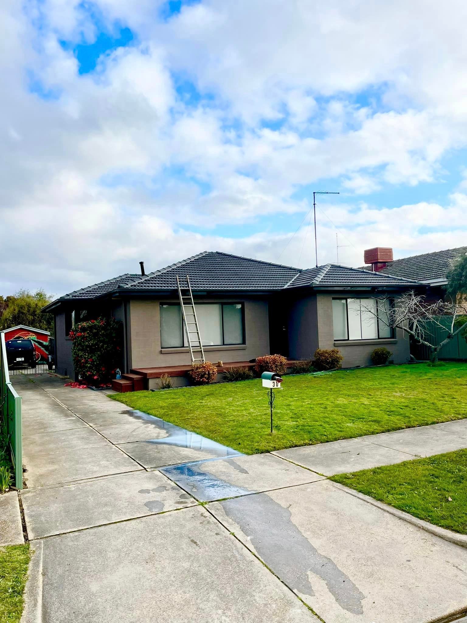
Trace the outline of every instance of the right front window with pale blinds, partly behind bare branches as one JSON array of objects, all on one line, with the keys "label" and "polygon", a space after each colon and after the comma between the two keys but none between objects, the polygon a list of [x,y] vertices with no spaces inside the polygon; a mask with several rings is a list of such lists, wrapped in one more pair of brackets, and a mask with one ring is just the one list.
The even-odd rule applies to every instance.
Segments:
[{"label": "right front window with pale blinds, partly behind bare branches", "polygon": [[388,299],[333,298],[334,340],[392,338]]}]

